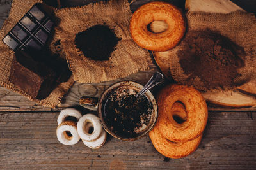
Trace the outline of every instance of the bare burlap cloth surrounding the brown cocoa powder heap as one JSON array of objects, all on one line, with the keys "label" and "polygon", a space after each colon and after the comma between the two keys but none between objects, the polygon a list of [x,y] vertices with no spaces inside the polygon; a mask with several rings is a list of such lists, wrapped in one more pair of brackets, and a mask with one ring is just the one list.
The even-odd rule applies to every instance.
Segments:
[{"label": "bare burlap cloth surrounding the brown cocoa powder heap", "polygon": [[[236,11],[228,14],[221,13],[203,13],[188,12],[188,31],[211,29],[218,31],[223,36],[227,36],[237,45],[242,46],[246,52],[244,60],[245,66],[239,69],[241,77],[237,81],[250,81],[255,79],[256,73],[256,19],[254,15],[242,11]],[[187,37],[185,36],[184,39]],[[184,49],[184,41],[178,46],[168,51],[170,56],[170,73],[175,81],[187,85],[193,85],[199,90],[205,90],[204,83],[200,78],[188,79],[189,75],[184,74],[180,66],[177,52]],[[166,55],[166,52],[160,52],[158,55]],[[214,73],[214,71],[212,71]]]}]

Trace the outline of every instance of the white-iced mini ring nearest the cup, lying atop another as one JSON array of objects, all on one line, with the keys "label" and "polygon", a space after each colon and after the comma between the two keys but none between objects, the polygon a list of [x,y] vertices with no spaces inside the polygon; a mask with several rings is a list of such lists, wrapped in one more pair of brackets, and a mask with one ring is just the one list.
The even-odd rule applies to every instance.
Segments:
[{"label": "white-iced mini ring nearest the cup, lying atop another", "polygon": [[[93,132],[91,134],[86,131],[86,127],[91,123],[93,125]],[[81,117],[77,122],[77,132],[81,139],[84,141],[94,141],[99,138],[102,132],[100,120],[96,115],[86,114]]]}]

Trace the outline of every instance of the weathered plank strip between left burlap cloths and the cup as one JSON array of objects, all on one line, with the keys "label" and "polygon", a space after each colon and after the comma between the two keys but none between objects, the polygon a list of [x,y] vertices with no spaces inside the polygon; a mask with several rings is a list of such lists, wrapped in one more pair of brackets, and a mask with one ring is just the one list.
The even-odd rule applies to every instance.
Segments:
[{"label": "weathered plank strip between left burlap cloths and the cup", "polygon": [[[103,83],[75,83],[74,86],[67,92],[63,98],[61,108],[70,107],[79,104],[79,99],[82,96],[100,97],[102,92],[106,90],[109,85],[118,81],[136,81],[143,85],[147,83],[152,74],[158,71],[157,66],[152,66],[148,71],[141,71],[140,73],[132,74],[126,78],[120,78],[113,81]],[[40,106],[35,102],[29,101],[26,97],[12,92],[4,87],[0,87],[0,111],[51,111],[51,108]]]}]

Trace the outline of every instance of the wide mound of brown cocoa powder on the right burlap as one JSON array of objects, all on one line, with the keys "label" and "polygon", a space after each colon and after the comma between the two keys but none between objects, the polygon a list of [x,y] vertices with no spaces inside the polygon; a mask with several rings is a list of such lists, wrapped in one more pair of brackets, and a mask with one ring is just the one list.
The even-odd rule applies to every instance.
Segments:
[{"label": "wide mound of brown cocoa powder on the right burlap", "polygon": [[244,67],[245,52],[226,36],[209,29],[189,31],[184,39],[184,50],[177,55],[187,80],[200,78],[205,90],[232,89],[242,82],[238,69]]}]

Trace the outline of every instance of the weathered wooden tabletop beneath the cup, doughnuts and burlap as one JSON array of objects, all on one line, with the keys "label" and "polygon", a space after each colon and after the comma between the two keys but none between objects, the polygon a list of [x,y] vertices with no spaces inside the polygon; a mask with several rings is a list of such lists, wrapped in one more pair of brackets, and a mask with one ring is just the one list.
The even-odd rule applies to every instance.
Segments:
[{"label": "weathered wooden tabletop beneath the cup, doughnuts and burlap", "polygon": [[[8,16],[10,2],[0,0],[0,26]],[[184,1],[179,3],[184,6]],[[255,9],[251,4],[248,8]],[[153,66],[149,71],[116,81],[145,84],[157,70]],[[87,148],[81,141],[73,146],[61,145],[56,138],[60,110],[72,106],[88,113],[77,105],[79,98],[100,97],[116,81],[75,83],[57,109],[38,106],[0,87],[0,169],[256,169],[256,112],[250,111],[209,111],[200,146],[182,159],[163,157],[148,136],[137,141],[108,136],[106,144],[97,150]]]}]

